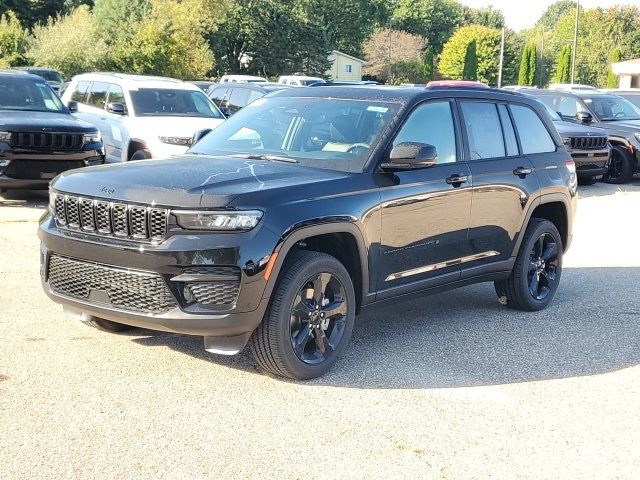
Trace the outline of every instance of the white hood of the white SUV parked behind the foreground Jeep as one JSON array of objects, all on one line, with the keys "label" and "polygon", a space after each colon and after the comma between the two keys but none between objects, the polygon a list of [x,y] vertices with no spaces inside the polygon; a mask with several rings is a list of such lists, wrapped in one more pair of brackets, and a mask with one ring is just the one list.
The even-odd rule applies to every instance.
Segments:
[{"label": "white hood of the white SUV parked behind the foreground Jeep", "polygon": [[205,117],[135,117],[129,128],[132,137],[189,137],[198,130],[216,128],[224,118]]}]

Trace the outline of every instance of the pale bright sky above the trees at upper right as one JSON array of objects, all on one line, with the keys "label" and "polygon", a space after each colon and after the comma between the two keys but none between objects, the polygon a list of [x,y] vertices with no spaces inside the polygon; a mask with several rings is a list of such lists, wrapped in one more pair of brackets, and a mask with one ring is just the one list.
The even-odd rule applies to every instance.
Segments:
[{"label": "pale bright sky above the trees at upper right", "polygon": [[[486,7],[492,5],[496,10],[502,10],[507,26],[514,30],[532,27],[546,8],[556,0],[460,0],[460,3],[470,7]],[[580,6],[584,8],[602,7],[613,5],[637,5],[640,0],[580,0]]]}]

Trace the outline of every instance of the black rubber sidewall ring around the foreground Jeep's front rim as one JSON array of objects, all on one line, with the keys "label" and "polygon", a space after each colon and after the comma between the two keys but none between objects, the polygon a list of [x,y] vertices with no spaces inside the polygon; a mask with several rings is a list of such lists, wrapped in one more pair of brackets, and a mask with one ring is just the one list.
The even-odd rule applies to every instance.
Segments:
[{"label": "black rubber sidewall ring around the foreground Jeep's front rim", "polygon": [[[356,299],[353,283],[349,273],[344,266],[335,258],[319,254],[314,257],[303,255],[302,258],[293,263],[292,270],[298,270],[292,277],[285,277],[278,285],[275,295],[278,297],[279,308],[272,308],[269,321],[274,322],[277,331],[277,341],[285,369],[298,379],[310,379],[324,375],[333,366],[336,360],[342,355],[355,320]],[[345,331],[338,347],[318,365],[309,365],[298,358],[291,345],[291,308],[293,301],[298,295],[302,286],[318,273],[330,273],[340,280],[347,297],[347,318]]]}]

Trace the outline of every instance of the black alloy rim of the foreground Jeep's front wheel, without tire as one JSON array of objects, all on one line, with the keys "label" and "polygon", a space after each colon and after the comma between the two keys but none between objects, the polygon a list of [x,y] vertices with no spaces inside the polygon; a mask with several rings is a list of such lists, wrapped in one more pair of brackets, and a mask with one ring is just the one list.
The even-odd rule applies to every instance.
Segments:
[{"label": "black alloy rim of the foreground Jeep's front wheel, without tire", "polygon": [[310,278],[291,308],[291,346],[303,362],[324,362],[345,333],[348,304],[344,286],[330,273]]}]

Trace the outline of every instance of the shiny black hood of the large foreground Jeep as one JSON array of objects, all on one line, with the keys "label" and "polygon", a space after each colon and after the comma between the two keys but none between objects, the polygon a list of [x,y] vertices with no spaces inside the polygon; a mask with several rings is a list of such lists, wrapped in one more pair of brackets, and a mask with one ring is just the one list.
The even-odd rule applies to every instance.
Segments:
[{"label": "shiny black hood of the large foreground Jeep", "polygon": [[70,170],[58,191],[182,208],[221,208],[242,195],[348,177],[348,173],[263,160],[181,155]]}]

